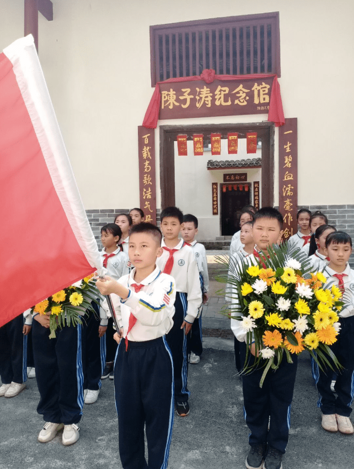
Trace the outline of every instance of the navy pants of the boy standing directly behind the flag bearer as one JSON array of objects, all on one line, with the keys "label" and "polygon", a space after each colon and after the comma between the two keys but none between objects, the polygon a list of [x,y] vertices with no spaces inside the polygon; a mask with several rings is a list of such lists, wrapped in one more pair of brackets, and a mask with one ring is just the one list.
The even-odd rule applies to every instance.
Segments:
[{"label": "navy pants of the boy standing directly behind the flag bearer", "polygon": [[176,292],[174,301],[173,326],[166,334],[166,341],[173,359],[174,400],[187,402],[190,392],[187,389],[188,354],[190,353],[190,334],[181,329],[187,314],[187,294]]}]

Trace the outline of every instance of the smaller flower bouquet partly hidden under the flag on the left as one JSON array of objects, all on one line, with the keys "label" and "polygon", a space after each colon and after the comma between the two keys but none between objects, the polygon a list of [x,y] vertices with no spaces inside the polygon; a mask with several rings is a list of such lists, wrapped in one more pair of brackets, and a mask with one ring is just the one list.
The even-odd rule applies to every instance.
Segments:
[{"label": "smaller flower bouquet partly hidden under the flag on the left", "polygon": [[31,313],[49,314],[50,339],[56,337],[55,331],[58,327],[70,326],[72,323],[75,326],[82,324],[81,316],[86,311],[94,312],[91,301],[98,304],[97,298],[100,293],[96,288],[93,276],[94,274],[85,277],[83,280],[54,293],[31,308]]}]

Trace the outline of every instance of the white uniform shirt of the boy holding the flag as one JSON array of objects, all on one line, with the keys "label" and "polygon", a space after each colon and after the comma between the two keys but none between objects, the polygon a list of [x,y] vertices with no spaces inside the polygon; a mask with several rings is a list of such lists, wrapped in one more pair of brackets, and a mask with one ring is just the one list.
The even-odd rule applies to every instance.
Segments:
[{"label": "white uniform shirt of the boy holding the flag", "polygon": [[[128,333],[128,340],[134,342],[151,341],[167,334],[173,325],[175,286],[174,279],[163,274],[155,266],[155,270],[140,282],[144,287],[135,292],[131,285],[134,280],[135,267],[129,275],[119,279],[119,283],[129,289],[126,299],[112,294],[111,299],[115,309],[119,327],[123,327],[123,337],[127,336],[130,313],[137,319]],[[109,315],[107,300],[103,301],[103,308]]]}]

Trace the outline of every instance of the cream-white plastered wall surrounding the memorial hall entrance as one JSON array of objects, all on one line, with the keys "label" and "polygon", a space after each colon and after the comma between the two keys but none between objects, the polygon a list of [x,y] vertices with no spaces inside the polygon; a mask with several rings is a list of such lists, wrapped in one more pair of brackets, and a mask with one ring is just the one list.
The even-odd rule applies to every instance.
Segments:
[{"label": "cream-white plastered wall surrounding the memorial hall entrance", "polygon": [[[218,8],[214,0],[180,0],[178,8],[167,0],[53,4],[54,21],[39,15],[39,55],[87,209],[139,203],[137,126],[152,95],[149,26],[271,11],[280,12],[285,115],[298,118],[299,204],[353,203],[352,0],[224,0]],[[0,22],[1,50],[23,35],[23,0],[1,2]],[[197,123],[258,119],[266,116]],[[190,122],[196,120],[164,121]],[[275,149],[277,157],[277,133]]]}]

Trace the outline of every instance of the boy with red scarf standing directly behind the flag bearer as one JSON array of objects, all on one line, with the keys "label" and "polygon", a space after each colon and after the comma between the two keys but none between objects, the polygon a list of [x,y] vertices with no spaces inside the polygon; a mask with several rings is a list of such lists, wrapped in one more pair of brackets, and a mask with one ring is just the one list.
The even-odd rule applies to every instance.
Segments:
[{"label": "boy with red scarf standing directly behind the flag bearer", "polygon": [[176,285],[173,327],[166,336],[171,349],[174,373],[174,400],[180,417],[189,414],[187,388],[190,331],[202,304],[199,271],[190,246],[179,238],[183,213],[167,207],[160,215],[163,253],[157,259],[161,271],[171,274]]}]

